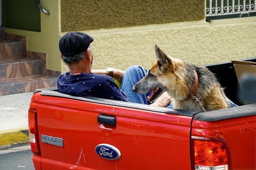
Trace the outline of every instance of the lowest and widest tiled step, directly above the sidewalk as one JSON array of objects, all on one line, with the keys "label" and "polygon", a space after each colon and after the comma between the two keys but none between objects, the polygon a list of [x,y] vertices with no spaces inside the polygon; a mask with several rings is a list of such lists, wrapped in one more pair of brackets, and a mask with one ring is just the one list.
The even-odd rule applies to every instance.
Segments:
[{"label": "lowest and widest tiled step, directly above the sidewalk", "polygon": [[57,86],[58,76],[34,75],[0,79],[0,96],[33,92],[40,88]]}]

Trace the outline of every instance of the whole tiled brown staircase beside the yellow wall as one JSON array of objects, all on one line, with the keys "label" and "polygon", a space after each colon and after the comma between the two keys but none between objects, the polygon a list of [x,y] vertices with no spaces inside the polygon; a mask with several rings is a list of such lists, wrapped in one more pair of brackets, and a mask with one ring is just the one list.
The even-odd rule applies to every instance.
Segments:
[{"label": "whole tiled brown staircase beside the yellow wall", "polygon": [[46,69],[46,54],[26,51],[26,37],[3,31],[0,27],[0,96],[57,86],[60,72]]}]

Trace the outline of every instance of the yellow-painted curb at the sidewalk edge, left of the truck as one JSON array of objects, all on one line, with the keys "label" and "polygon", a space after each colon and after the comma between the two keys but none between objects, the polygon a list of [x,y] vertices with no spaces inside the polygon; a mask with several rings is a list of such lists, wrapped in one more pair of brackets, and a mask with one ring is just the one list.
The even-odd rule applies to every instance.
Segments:
[{"label": "yellow-painted curb at the sidewalk edge, left of the truck", "polygon": [[0,131],[0,150],[29,145],[28,127]]}]

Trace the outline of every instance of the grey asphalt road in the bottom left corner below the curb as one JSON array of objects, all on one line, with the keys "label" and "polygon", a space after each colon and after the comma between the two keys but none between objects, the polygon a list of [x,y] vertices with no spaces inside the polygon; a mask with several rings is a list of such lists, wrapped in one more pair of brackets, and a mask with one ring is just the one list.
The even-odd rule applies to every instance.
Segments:
[{"label": "grey asphalt road in the bottom left corner below the curb", "polygon": [[0,150],[0,170],[34,170],[30,145]]}]

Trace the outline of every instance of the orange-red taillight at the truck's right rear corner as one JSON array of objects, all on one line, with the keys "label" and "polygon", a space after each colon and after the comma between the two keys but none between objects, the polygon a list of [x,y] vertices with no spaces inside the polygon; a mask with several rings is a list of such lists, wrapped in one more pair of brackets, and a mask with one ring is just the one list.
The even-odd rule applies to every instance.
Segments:
[{"label": "orange-red taillight at the truck's right rear corner", "polygon": [[228,147],[221,139],[192,137],[194,170],[229,170]]}]

